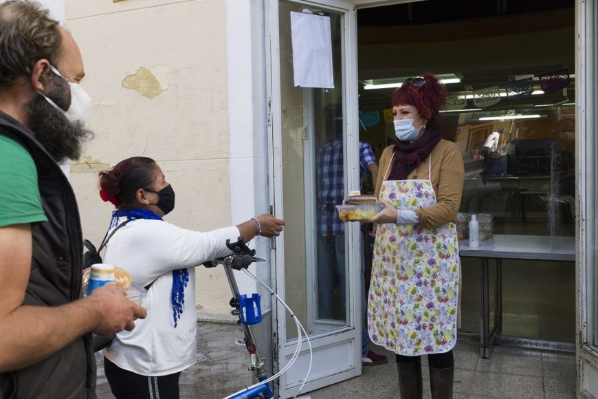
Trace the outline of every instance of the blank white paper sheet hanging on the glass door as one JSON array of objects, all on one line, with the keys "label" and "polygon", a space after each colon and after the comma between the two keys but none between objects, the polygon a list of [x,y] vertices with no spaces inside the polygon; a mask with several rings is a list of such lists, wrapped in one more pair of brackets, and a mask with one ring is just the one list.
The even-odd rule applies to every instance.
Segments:
[{"label": "blank white paper sheet hanging on the glass door", "polygon": [[332,89],[330,17],[291,12],[295,86]]}]

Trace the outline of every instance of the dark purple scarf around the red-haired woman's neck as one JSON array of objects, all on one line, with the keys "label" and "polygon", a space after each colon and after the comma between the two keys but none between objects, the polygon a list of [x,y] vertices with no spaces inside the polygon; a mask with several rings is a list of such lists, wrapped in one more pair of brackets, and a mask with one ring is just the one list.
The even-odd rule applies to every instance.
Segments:
[{"label": "dark purple scarf around the red-haired woman's neck", "polygon": [[395,140],[395,164],[392,165],[388,180],[406,180],[407,166],[421,164],[430,155],[436,144],[442,138],[442,133],[436,123],[428,123],[423,136],[414,142]]}]

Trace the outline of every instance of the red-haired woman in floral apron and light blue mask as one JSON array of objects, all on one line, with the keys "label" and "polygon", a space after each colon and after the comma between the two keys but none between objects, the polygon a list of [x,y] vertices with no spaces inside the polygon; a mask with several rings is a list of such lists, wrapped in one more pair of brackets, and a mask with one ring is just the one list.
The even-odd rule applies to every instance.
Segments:
[{"label": "red-haired woman in floral apron and light blue mask", "polygon": [[377,226],[368,299],[373,343],[394,351],[401,398],[421,398],[428,355],[432,398],[452,398],[460,261],[456,235],[463,155],[442,139],[445,89],[429,74],[392,94],[395,144],[380,158]]}]

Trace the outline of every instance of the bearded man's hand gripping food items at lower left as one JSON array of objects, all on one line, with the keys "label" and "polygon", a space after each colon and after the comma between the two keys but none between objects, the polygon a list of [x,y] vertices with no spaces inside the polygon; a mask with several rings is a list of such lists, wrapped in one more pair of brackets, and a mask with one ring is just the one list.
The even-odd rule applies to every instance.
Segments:
[{"label": "bearded man's hand gripping food items at lower left", "polygon": [[106,284],[91,292],[84,301],[98,312],[98,324],[93,332],[99,335],[113,335],[122,330],[131,331],[135,327],[133,320],[145,319],[147,311],[126,298],[122,288],[115,284]]}]

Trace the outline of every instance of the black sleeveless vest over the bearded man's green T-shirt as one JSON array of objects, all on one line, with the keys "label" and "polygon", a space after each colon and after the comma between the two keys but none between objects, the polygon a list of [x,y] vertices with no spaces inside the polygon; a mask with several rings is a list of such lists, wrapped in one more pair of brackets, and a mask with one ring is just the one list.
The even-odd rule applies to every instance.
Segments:
[{"label": "black sleeveless vest over the bearded man's green T-shirt", "polygon": [[[31,274],[23,305],[50,307],[75,301],[81,296],[82,234],[73,189],[34,134],[1,111],[0,134],[23,144],[31,154],[48,219],[32,225]],[[0,374],[0,399],[95,398],[96,359],[90,343],[87,334],[39,363]]]}]

